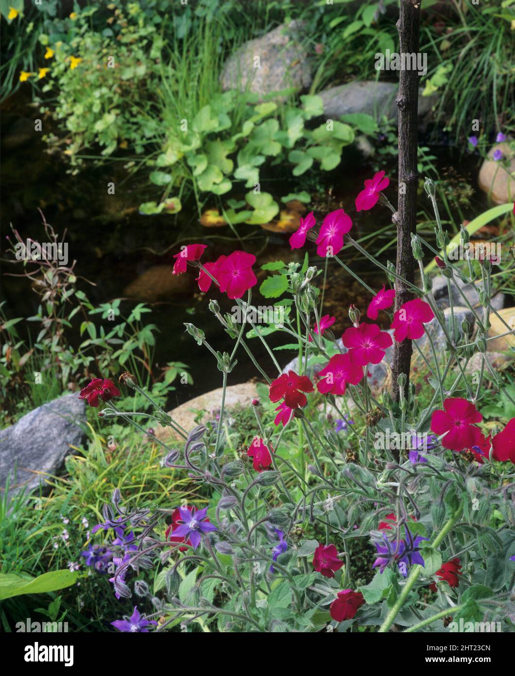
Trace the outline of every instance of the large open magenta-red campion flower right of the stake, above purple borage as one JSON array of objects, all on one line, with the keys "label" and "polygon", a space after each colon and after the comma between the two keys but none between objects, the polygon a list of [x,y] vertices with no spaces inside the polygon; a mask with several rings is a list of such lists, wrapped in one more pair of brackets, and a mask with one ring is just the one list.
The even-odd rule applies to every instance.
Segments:
[{"label": "large open magenta-red campion flower right of the stake, above purple borage", "polygon": [[481,443],[481,431],[475,423],[481,423],[483,416],[474,404],[461,397],[448,397],[443,408],[433,412],[431,430],[437,435],[445,434],[441,440],[444,448],[459,452]]}]

